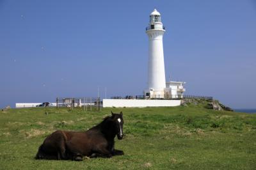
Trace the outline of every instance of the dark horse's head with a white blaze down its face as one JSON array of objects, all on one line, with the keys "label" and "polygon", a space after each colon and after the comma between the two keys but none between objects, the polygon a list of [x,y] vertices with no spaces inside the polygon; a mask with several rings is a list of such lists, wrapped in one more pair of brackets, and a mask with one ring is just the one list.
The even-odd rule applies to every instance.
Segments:
[{"label": "dark horse's head with a white blaze down its face", "polygon": [[123,138],[124,133],[123,133],[123,125],[124,125],[124,120],[123,120],[123,113],[120,112],[120,114],[112,113],[112,120],[114,123],[115,127],[115,134],[117,135],[117,138],[120,140]]}]

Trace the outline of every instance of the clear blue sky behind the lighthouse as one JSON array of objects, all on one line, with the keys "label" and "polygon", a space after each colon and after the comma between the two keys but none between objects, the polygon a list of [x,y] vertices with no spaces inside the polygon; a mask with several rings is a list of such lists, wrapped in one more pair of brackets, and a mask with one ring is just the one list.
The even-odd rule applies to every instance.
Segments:
[{"label": "clear blue sky behind the lighthouse", "polygon": [[154,8],[166,79],[187,95],[256,106],[256,1],[0,0],[0,107],[56,97],[140,95]]}]

